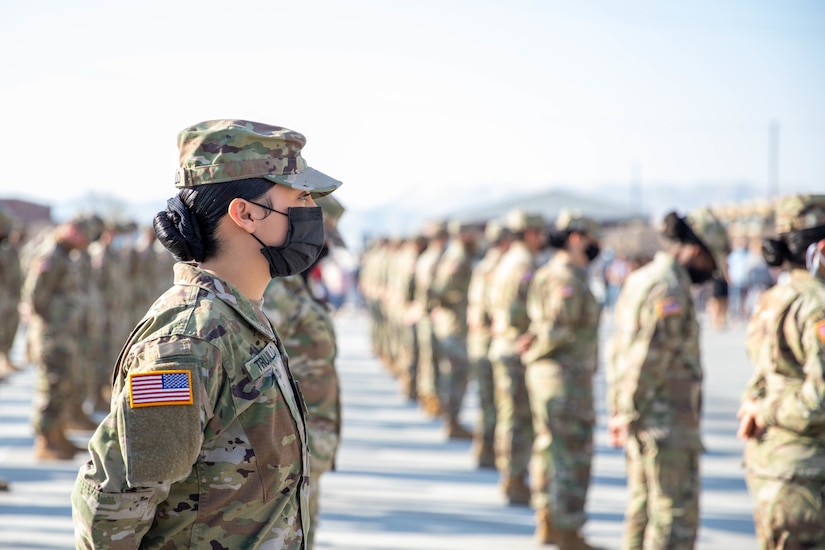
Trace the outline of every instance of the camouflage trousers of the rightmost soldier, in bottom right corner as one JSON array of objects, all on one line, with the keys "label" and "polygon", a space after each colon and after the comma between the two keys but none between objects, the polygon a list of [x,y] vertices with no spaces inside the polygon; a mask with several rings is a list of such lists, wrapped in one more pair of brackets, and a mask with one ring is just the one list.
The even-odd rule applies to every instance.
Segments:
[{"label": "camouflage trousers of the rightmost soldier, in bottom right corner", "polygon": [[825,479],[781,480],[747,472],[760,550],[825,548]]}]

